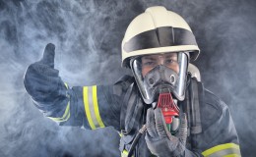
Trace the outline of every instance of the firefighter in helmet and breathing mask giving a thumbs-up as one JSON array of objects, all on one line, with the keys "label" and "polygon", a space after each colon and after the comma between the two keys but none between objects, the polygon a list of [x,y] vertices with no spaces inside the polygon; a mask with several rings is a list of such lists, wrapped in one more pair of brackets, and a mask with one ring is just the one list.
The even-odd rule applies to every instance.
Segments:
[{"label": "firefighter in helmet and breathing mask giving a thumbs-up", "polygon": [[49,43],[24,83],[35,107],[60,126],[114,127],[122,156],[240,156],[227,106],[188,71],[199,53],[188,24],[156,6],[131,22],[122,41],[122,66],[133,77],[70,87]]}]

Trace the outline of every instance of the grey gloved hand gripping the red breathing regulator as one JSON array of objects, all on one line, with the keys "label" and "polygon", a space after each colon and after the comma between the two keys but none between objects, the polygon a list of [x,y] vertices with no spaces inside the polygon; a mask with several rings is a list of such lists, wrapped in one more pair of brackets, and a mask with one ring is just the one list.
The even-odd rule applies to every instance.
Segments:
[{"label": "grey gloved hand gripping the red breathing regulator", "polygon": [[146,142],[154,155],[159,157],[183,156],[187,138],[186,115],[181,115],[178,136],[172,135],[165,126],[160,108],[147,111]]}]

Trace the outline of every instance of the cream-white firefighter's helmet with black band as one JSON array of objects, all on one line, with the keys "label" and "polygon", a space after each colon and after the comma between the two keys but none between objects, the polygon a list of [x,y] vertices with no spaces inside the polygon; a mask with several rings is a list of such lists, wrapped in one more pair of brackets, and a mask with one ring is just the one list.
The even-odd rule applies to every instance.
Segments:
[{"label": "cream-white firefighter's helmet with black band", "polygon": [[131,57],[166,52],[190,52],[196,60],[200,49],[185,20],[164,7],[148,8],[127,27],[122,41],[122,67]]}]

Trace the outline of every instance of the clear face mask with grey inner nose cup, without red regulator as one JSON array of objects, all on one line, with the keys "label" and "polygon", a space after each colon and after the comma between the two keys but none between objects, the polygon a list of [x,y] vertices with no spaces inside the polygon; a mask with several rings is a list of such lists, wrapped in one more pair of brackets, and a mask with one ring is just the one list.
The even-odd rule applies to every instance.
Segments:
[{"label": "clear face mask with grey inner nose cup, without red regulator", "polygon": [[160,93],[169,92],[175,99],[185,97],[188,56],[186,53],[145,55],[131,59],[130,66],[144,102],[157,102]]}]

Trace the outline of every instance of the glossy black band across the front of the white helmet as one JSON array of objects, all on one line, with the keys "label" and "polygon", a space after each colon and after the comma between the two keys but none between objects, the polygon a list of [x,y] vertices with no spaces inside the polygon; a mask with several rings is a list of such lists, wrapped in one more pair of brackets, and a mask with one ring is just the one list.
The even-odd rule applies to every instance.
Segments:
[{"label": "glossy black band across the front of the white helmet", "polygon": [[194,34],[184,28],[162,26],[139,33],[125,42],[123,48],[126,52],[132,52],[148,48],[178,45],[197,45]]}]

